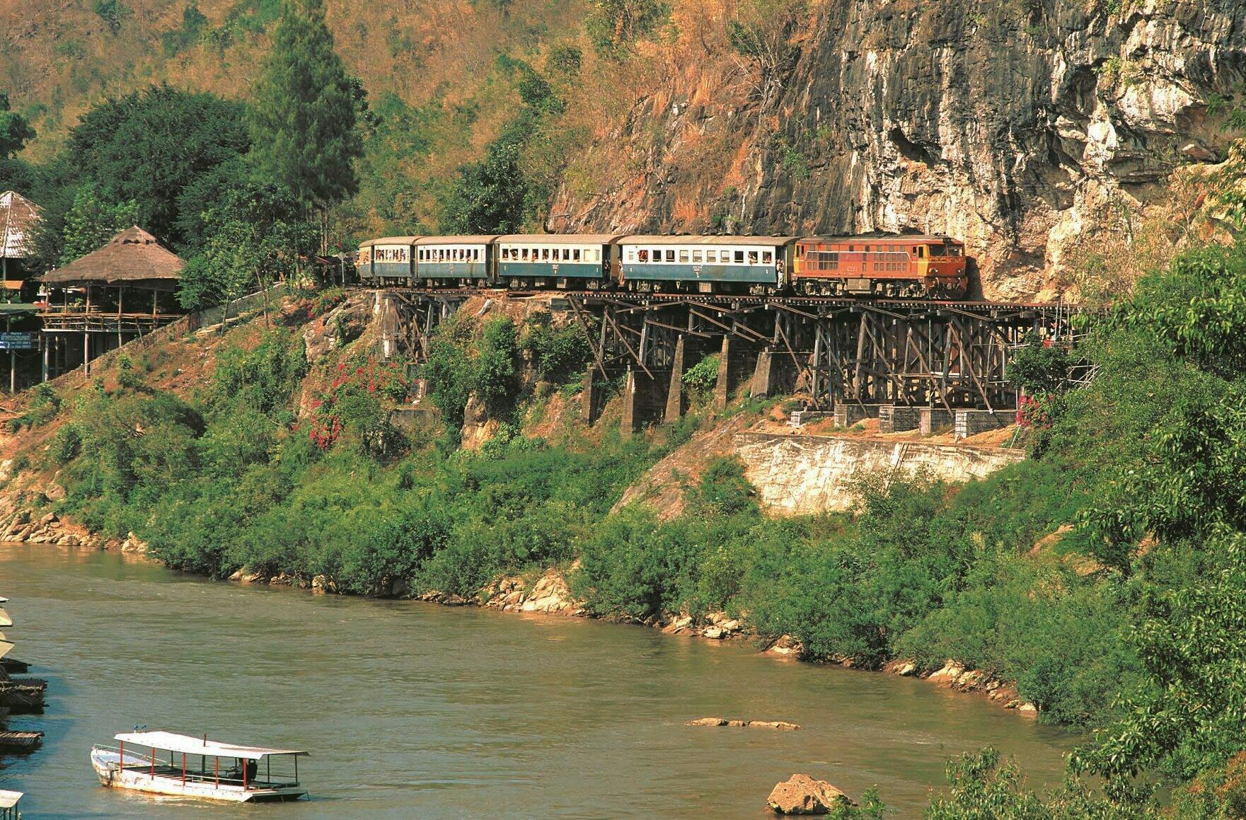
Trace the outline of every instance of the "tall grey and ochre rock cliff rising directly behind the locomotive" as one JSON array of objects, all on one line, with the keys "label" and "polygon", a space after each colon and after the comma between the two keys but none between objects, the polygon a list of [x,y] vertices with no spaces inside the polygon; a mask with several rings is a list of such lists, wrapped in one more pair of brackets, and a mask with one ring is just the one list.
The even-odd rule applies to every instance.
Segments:
[{"label": "tall grey and ochre rock cliff rising directly behind the locomotive", "polygon": [[[647,182],[629,192],[640,197],[564,194],[552,212],[573,214],[568,227],[642,232],[948,233],[978,259],[988,297],[1024,297],[1072,243],[1120,229],[1123,212],[1164,199],[1174,168],[1224,158],[1232,136],[1209,102],[1246,76],[1240,2],[811,7],[811,26],[792,24],[800,49],[773,103],[718,105],[695,77],[674,80],[609,136],[645,145],[663,130],[664,151],[645,155]],[[693,181],[684,155],[709,141],[740,160]]]}]

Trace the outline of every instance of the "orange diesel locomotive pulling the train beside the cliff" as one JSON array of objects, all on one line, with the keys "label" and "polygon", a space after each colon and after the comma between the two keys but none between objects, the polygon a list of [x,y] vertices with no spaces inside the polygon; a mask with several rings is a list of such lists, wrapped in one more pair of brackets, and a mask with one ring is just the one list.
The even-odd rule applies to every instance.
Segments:
[{"label": "orange diesel locomotive pulling the train beside the cliff", "polygon": [[805,237],[790,280],[815,297],[959,299],[969,288],[964,243],[937,236]]}]

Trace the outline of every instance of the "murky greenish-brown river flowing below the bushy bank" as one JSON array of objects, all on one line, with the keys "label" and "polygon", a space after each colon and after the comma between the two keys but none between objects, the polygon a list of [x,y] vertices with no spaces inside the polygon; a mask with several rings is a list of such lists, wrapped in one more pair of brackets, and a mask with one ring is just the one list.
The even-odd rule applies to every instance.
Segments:
[{"label": "murky greenish-brown river flowing below the bushy bank", "polygon": [[[203,581],[115,553],[0,545],[14,657],[47,733],[0,789],[29,818],[754,818],[796,771],[920,814],[948,755],[993,744],[1030,784],[1077,738],[921,680],[579,618]],[[690,728],[704,715],[801,732]],[[313,799],[222,808],[101,788],[136,724],[305,748]]]}]

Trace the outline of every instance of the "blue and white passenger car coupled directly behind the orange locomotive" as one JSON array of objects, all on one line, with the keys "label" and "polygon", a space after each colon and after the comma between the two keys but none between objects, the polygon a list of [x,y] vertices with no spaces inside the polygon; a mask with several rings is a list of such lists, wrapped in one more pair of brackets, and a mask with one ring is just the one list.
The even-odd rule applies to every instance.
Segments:
[{"label": "blue and white passenger car coupled directly behind the orange locomotive", "polygon": [[795,237],[623,237],[623,287],[687,293],[775,293]]}]

